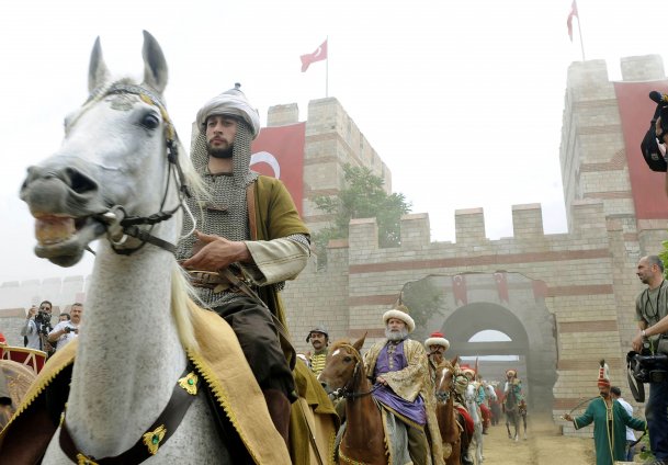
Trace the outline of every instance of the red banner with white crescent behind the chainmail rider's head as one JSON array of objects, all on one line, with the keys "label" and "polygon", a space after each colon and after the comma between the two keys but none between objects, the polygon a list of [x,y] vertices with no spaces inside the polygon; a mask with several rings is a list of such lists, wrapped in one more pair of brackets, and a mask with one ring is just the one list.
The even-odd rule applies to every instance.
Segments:
[{"label": "red banner with white crescent behind the chainmail rider's head", "polygon": [[250,169],[278,178],[287,188],[299,215],[304,199],[306,123],[263,127],[251,146]]}]

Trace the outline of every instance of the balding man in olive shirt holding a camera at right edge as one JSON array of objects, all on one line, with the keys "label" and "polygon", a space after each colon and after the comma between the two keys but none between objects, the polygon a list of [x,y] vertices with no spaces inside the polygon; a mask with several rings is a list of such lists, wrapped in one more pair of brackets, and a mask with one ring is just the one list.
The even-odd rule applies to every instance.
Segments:
[{"label": "balding man in olive shirt holding a camera at right edge", "polygon": [[[639,353],[668,353],[668,283],[664,281],[664,263],[657,256],[643,257],[637,264],[637,276],[647,284],[635,299],[639,332],[631,341]],[[649,384],[649,399],[645,406],[649,430],[649,445],[657,458],[655,464],[668,465],[668,378]]]}]

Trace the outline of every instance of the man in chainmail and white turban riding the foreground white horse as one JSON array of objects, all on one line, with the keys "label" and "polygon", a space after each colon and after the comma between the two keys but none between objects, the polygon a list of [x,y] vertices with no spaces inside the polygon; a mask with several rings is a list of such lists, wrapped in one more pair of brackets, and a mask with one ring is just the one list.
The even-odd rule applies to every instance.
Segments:
[{"label": "man in chainmail and white turban riding the foreground white horse", "polygon": [[250,170],[260,117],[239,84],[206,102],[196,123],[191,158],[211,197],[188,201],[204,220],[193,225],[185,218],[184,235],[197,230],[180,242],[177,256],[185,259],[200,298],[237,334],[287,441],[290,404],[297,398],[291,370],[296,358],[294,350],[284,354],[282,347],[290,344],[276,338],[285,334],[287,342],[279,291],[306,265],[309,232],[283,183]]}]

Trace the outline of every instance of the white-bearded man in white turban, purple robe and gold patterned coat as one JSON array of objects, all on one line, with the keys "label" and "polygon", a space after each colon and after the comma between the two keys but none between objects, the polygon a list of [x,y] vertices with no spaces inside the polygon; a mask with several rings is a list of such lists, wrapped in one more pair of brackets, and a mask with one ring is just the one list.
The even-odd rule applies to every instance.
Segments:
[{"label": "white-bearded man in white turban, purple robe and gold patterned coat", "polygon": [[373,397],[406,426],[412,463],[443,464],[427,353],[420,342],[408,339],[415,321],[408,308],[398,305],[383,315],[383,322],[386,339],[364,355],[366,375],[376,383]]}]

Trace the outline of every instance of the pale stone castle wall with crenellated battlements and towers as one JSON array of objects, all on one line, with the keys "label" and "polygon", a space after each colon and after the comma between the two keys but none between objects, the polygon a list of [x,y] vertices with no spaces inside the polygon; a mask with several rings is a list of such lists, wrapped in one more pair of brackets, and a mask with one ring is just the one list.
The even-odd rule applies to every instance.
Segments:
[{"label": "pale stone castle wall with crenellated battlements and towers", "polygon": [[[622,76],[665,79],[656,56],[623,59]],[[296,123],[297,107],[273,106],[268,121],[270,126]],[[520,376],[533,408],[556,417],[591,397],[600,359],[610,364],[613,383],[629,393],[624,358],[637,331],[634,298],[643,287],[635,265],[643,254],[660,250],[668,234],[666,219],[635,217],[616,99],[603,61],[576,63],[568,70],[559,156],[566,234],[544,234],[537,204],[514,205],[513,236],[499,240],[487,239],[482,208],[455,212],[455,242],[431,241],[426,213],[401,218],[396,248],[378,247],[375,219],[352,220],[349,239],[329,245],[327,266],[312,260],[283,293],[297,351],[308,350],[306,334],[320,322],[332,339],[366,333],[367,348],[383,337],[382,315],[404,285],[438,276],[446,304],[424,330],[441,329],[463,349],[469,336],[485,329],[521,336],[523,347],[516,349],[527,373]],[[390,192],[387,167],[339,102],[312,101],[304,167],[304,217],[312,229],[329,219],[313,197],[337,194],[347,162],[372,169]],[[508,299],[494,287],[499,272],[508,280]],[[454,298],[455,276],[468,283],[466,303]],[[83,279],[4,283],[0,330],[11,343],[29,300],[67,305],[84,288]],[[574,433],[568,427],[565,432]]]}]

